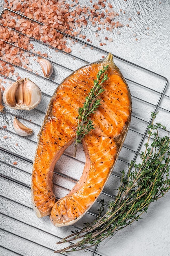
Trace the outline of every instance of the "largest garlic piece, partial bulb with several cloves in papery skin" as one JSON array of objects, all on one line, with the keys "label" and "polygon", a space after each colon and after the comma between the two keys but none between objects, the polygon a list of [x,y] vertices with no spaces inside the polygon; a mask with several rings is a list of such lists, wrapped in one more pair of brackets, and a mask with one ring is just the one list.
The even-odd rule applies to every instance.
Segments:
[{"label": "largest garlic piece, partial bulb with several cloves in papery skin", "polygon": [[4,103],[10,108],[31,110],[38,106],[42,93],[29,78],[19,79],[9,85],[3,94]]}]

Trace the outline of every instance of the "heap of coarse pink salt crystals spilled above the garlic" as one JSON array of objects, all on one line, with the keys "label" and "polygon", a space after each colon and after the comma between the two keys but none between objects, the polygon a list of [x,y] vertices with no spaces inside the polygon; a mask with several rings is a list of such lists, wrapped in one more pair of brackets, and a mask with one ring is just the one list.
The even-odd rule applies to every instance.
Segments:
[{"label": "heap of coarse pink salt crystals spilled above the garlic", "polygon": [[[49,46],[55,47],[56,52],[58,49],[70,53],[70,47],[75,44],[75,40],[71,41],[71,44],[69,44],[67,37],[57,32],[56,29],[68,34],[68,36],[79,36],[79,38],[85,39],[86,35],[84,35],[83,31],[88,25],[93,27],[94,31],[96,29],[96,31],[106,30],[109,32],[119,27],[120,31],[115,32],[117,34],[120,34],[121,27],[124,26],[118,20],[119,15],[122,15],[122,9],[119,9],[118,13],[113,10],[113,5],[107,0],[99,0],[96,2],[90,0],[92,6],[88,4],[80,5],[78,0],[71,0],[71,3],[65,0],[58,0],[57,3],[54,0],[33,0],[31,4],[29,1],[24,2],[24,0],[4,0],[4,2],[4,7],[7,7],[7,4],[9,4],[10,9],[20,11],[24,16],[28,17],[28,19],[22,18],[6,10],[0,19],[1,23],[4,25],[0,26],[0,38],[2,39],[0,40],[1,58],[10,63],[7,64],[6,62],[0,61],[0,66],[2,67],[0,73],[9,77],[14,75],[17,79],[20,79],[20,76],[15,72],[13,64],[31,70],[26,65],[29,65],[29,57],[34,55],[26,54],[23,50],[25,49],[35,53],[33,50],[34,45],[30,40],[31,37]],[[125,11],[123,11],[123,13],[125,13]],[[140,12],[137,11],[137,14],[139,15]],[[29,20],[30,18],[44,25],[33,22]],[[131,20],[131,18],[129,18],[129,20]],[[126,24],[126,26],[128,27],[129,25]],[[15,31],[11,30],[11,28],[15,29]],[[100,42],[99,36],[97,40]],[[113,42],[112,38],[105,37],[105,40]],[[22,49],[9,45],[4,41],[12,42]],[[92,43],[89,38],[87,42]],[[106,43],[100,42],[99,45],[103,46],[106,45]],[[70,47],[68,48],[68,46]],[[84,47],[86,47],[86,45],[84,45]],[[91,49],[93,49],[93,47]],[[38,54],[43,56],[41,52]]]}]

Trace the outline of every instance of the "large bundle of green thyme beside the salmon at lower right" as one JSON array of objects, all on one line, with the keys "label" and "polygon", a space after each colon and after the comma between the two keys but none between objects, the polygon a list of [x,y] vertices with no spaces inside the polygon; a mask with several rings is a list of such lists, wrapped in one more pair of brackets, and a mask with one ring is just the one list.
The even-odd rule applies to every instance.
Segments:
[{"label": "large bundle of green thyme beside the salmon at lower right", "polygon": [[[115,201],[109,202],[104,213],[104,200],[99,215],[84,228],[73,233],[60,243],[70,243],[56,252],[73,252],[99,244],[116,231],[131,225],[147,212],[150,203],[163,197],[170,190],[170,137],[165,126],[153,124],[157,114],[152,113],[148,141],[145,151],[141,152],[141,163],[131,162],[128,173],[122,171],[121,184]],[[159,137],[158,128],[167,132]],[[78,239],[78,241],[77,241]],[[73,243],[75,241],[75,243]]]}]

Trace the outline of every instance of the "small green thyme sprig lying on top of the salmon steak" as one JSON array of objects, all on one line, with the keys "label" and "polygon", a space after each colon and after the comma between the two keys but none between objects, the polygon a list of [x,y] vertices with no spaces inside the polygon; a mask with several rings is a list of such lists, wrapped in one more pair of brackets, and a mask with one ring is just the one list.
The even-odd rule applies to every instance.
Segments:
[{"label": "small green thyme sprig lying on top of the salmon steak", "polygon": [[97,108],[101,105],[101,99],[97,99],[99,94],[104,92],[104,88],[102,84],[108,80],[108,74],[104,74],[108,70],[108,65],[97,73],[97,79],[93,82],[93,88],[89,92],[88,96],[85,99],[82,108],[79,108],[78,113],[78,124],[75,138],[75,152],[74,156],[77,152],[77,146],[82,141],[84,136],[88,134],[92,129],[94,129],[93,121],[88,119],[88,117],[93,114]]}]

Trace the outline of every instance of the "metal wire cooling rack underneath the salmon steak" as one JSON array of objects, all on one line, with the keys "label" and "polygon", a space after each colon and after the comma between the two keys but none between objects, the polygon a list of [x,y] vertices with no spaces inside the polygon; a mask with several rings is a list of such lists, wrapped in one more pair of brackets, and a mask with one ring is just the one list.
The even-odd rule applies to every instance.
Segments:
[{"label": "metal wire cooling rack underneath the salmon steak", "polygon": [[[0,13],[1,21],[2,15],[6,12],[12,12],[16,15],[15,18],[17,19],[29,19],[15,11],[3,9]],[[29,20],[43,25],[35,20]],[[4,25],[0,23],[0,26]],[[15,28],[6,28],[15,31],[20,36],[26,37],[24,33],[15,30]],[[24,112],[6,107],[4,114],[0,116],[0,233],[5,238],[2,239],[0,244],[1,255],[53,255],[53,252],[57,249],[55,245],[56,241],[61,240],[74,227],[76,229],[81,228],[83,222],[91,220],[97,214],[100,198],[104,198],[106,201],[115,198],[121,176],[120,171],[128,168],[130,160],[137,159],[147,137],[148,124],[151,121],[150,113],[159,111],[162,119],[169,120],[170,118],[170,104],[166,104],[166,102],[170,102],[170,97],[166,94],[167,79],[144,67],[115,56],[113,53],[115,63],[124,74],[132,94],[132,121],[113,173],[110,175],[99,199],[74,227],[56,229],[51,225],[48,217],[38,219],[33,213],[30,200],[31,172],[37,134],[44,119],[51,95],[65,76],[68,76],[78,67],[89,63],[91,59],[97,60],[101,58],[101,54],[108,54],[105,50],[86,43],[83,40],[68,36],[68,34],[61,31],[57,32],[63,34],[72,43],[74,42],[72,53],[66,53],[63,50],[56,52],[55,47],[47,45],[36,38],[30,38],[34,49],[41,49],[42,52],[48,52],[48,56],[52,55],[51,58],[47,57],[53,63],[55,73],[55,76],[52,76],[50,79],[44,78],[41,71],[38,74],[33,70],[11,64],[3,56],[0,58],[0,61],[8,65],[13,65],[15,70],[19,74],[22,74],[23,77],[29,76],[31,80],[36,81],[35,83],[42,90],[42,103],[35,110]],[[18,47],[18,45],[8,40],[0,40],[8,44],[9,47]],[[87,47],[82,50],[82,45],[84,44]],[[93,50],[89,49],[92,47]],[[18,50],[27,53],[30,65],[35,65],[35,68],[38,68],[33,58],[42,57],[40,54],[22,47],[18,47]],[[91,51],[90,55],[87,54],[89,51]],[[1,72],[0,76],[3,81],[15,81],[13,76],[9,77]],[[12,126],[14,116],[22,119],[24,124],[32,128],[34,131],[33,135],[28,138],[17,135]],[[4,125],[7,128],[4,128]],[[3,138],[4,135],[8,136],[7,139]],[[82,148],[79,148],[76,158],[72,157],[72,150],[73,147],[70,146],[55,166],[53,181],[57,198],[68,193],[81,176],[84,167],[85,158]],[[14,161],[18,164],[13,165]],[[69,172],[67,171],[68,168]],[[83,252],[79,254],[84,255]],[[88,255],[102,256],[100,254],[100,246],[88,249]]]}]

